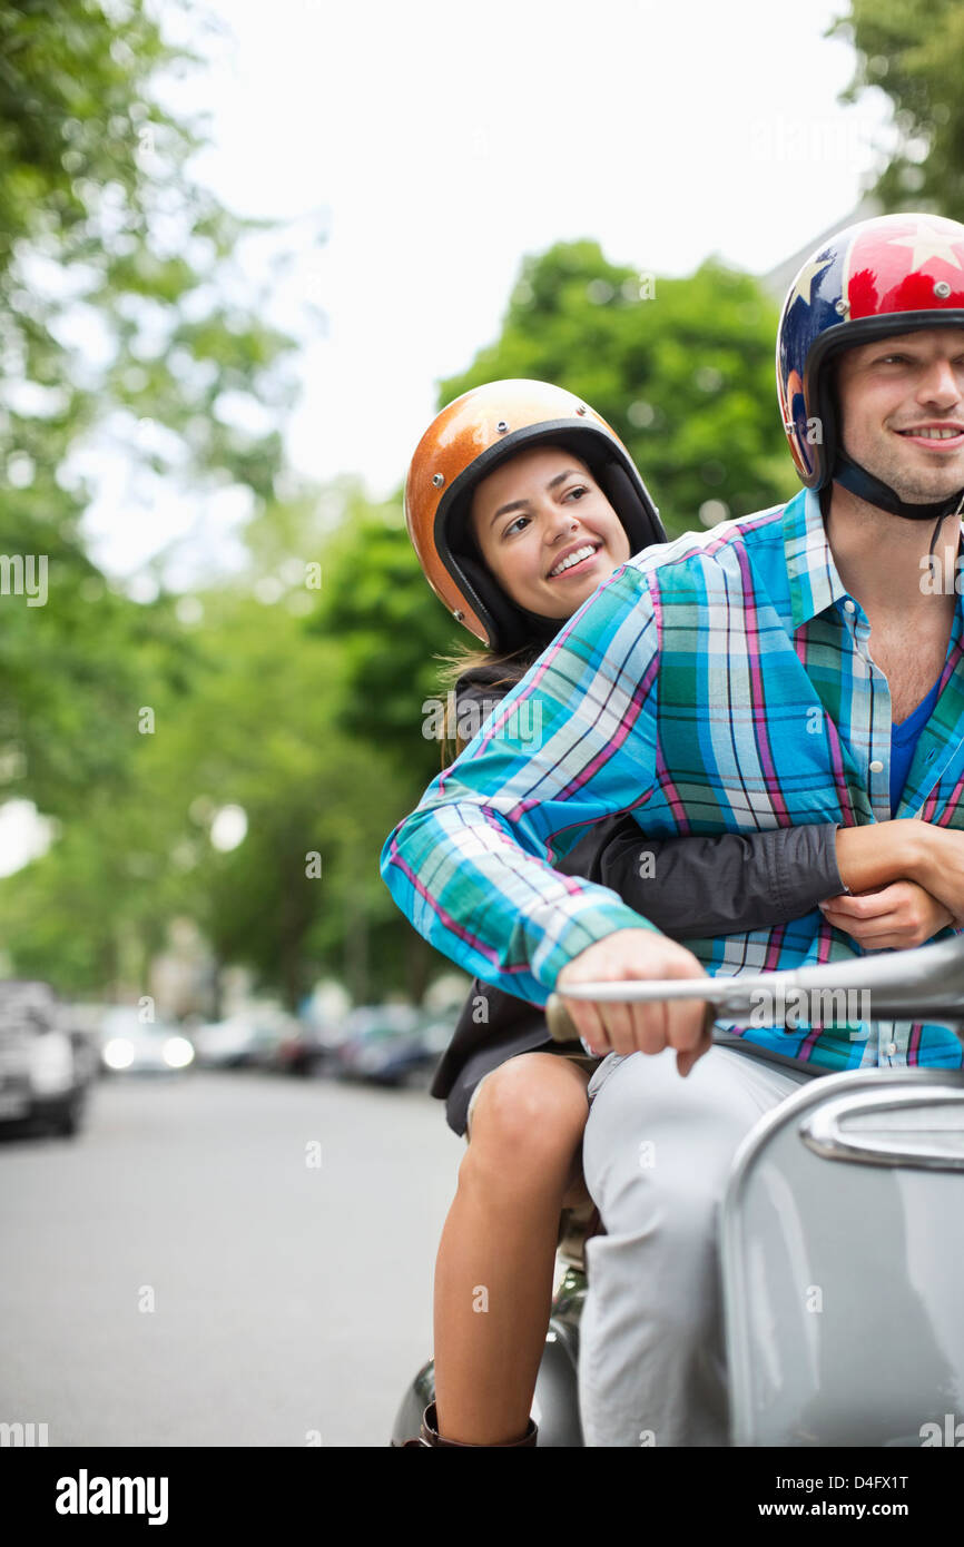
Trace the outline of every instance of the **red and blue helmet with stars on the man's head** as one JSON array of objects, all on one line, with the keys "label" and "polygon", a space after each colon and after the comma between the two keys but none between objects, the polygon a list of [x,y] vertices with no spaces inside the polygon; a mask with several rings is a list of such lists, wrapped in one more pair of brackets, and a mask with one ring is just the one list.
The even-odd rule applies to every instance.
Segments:
[{"label": "red and blue helmet with stars on the man's head", "polygon": [[[899,515],[938,509],[905,504],[845,455],[831,367],[853,345],[952,326],[964,326],[964,226],[955,220],[879,215],[846,226],[806,260],[780,317],[777,396],[791,455],[809,489],[839,478]],[[953,509],[956,498],[942,503]]]}]

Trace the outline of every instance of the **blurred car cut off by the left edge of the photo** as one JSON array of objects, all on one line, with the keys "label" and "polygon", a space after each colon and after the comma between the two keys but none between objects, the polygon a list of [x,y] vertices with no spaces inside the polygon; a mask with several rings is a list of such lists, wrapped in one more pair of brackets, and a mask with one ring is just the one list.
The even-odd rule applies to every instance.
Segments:
[{"label": "blurred car cut off by the left edge of the photo", "polygon": [[48,982],[0,982],[0,1122],[79,1132],[96,1071],[88,1038]]}]

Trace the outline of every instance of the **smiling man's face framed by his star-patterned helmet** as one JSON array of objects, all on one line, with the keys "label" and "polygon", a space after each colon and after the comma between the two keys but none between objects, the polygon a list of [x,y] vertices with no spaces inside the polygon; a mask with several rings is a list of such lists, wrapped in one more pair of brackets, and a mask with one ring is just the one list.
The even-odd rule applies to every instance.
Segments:
[{"label": "smiling man's face framed by his star-patterned helmet", "polygon": [[846,350],[837,365],[843,449],[910,504],[964,487],[964,328]]}]

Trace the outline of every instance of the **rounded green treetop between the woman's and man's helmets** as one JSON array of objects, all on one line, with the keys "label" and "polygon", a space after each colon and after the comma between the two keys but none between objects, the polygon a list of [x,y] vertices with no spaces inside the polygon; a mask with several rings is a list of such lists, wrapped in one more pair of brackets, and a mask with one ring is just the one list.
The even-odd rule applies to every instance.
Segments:
[{"label": "rounded green treetop between the woman's and man's helmets", "polygon": [[676,534],[699,528],[707,500],[747,515],[795,487],[775,334],[777,309],[749,274],[709,260],[690,278],[641,277],[594,241],[560,243],[525,261],[500,339],[439,396],[504,376],[568,387],[625,441]]}]

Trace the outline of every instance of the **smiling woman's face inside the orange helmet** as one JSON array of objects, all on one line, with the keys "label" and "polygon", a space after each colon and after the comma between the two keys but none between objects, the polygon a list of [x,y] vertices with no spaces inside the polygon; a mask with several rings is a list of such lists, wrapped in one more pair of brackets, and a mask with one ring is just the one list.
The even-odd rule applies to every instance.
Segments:
[{"label": "smiling woman's face inside the orange helmet", "polygon": [[520,452],[483,478],[472,529],[501,588],[543,617],[569,617],[630,557],[622,521],[586,464],[557,446]]}]

